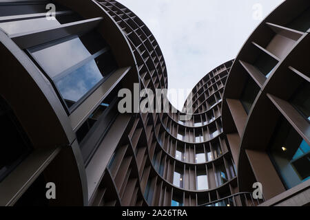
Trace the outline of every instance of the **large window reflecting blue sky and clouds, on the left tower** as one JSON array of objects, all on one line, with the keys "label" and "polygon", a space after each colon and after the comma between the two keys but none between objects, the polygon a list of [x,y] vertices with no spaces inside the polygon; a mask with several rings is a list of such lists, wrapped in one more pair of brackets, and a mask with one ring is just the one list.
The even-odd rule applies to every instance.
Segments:
[{"label": "large window reflecting blue sky and clouds, on the left tower", "polygon": [[29,51],[54,81],[69,108],[117,68],[112,53],[97,32],[72,36]]}]

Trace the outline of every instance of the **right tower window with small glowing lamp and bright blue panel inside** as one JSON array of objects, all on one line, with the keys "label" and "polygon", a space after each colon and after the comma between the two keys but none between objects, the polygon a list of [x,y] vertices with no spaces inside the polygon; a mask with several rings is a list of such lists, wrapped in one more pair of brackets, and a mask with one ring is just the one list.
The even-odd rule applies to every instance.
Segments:
[{"label": "right tower window with small glowing lamp and bright blue panel inside", "polygon": [[285,186],[293,188],[310,179],[310,146],[285,118],[275,131],[269,155]]}]

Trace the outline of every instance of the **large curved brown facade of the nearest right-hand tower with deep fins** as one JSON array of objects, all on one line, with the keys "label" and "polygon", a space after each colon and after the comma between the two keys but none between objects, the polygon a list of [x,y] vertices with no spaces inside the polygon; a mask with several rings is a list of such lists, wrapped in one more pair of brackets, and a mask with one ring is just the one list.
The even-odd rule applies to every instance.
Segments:
[{"label": "large curved brown facade of the nearest right-hand tower with deep fins", "polygon": [[265,206],[309,205],[310,2],[285,1],[231,67],[223,128],[240,191],[262,184]]}]

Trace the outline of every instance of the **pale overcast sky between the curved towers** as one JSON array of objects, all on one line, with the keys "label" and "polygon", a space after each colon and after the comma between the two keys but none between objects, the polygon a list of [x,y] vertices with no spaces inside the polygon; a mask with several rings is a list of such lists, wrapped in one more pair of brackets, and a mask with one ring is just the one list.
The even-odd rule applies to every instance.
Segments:
[{"label": "pale overcast sky between the curved towers", "polygon": [[182,109],[187,92],[211,69],[235,58],[261,20],[283,0],[118,0],[152,31],[165,57],[170,97]]}]

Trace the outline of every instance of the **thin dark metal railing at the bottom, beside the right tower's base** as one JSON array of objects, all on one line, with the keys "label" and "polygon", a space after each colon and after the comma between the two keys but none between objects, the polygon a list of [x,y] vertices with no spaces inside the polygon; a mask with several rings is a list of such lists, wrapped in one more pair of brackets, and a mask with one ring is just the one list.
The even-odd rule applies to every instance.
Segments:
[{"label": "thin dark metal railing at the bottom, beside the right tower's base", "polygon": [[259,206],[265,202],[264,197],[262,199],[254,199],[252,194],[253,192],[239,192],[199,206]]}]

